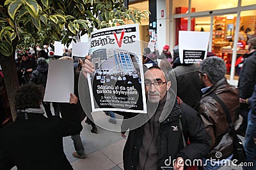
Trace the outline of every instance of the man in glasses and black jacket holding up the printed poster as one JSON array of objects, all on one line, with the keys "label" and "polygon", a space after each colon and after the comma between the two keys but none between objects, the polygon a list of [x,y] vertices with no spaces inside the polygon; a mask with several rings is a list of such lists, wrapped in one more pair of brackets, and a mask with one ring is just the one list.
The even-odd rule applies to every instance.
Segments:
[{"label": "man in glasses and black jacket holding up the printed poster", "polygon": [[[85,60],[83,71],[93,73],[92,62]],[[130,131],[123,152],[124,169],[173,167],[182,170],[186,160],[203,158],[209,152],[209,134],[196,111],[185,103],[179,105],[177,102],[175,92],[170,89],[170,80],[175,78],[168,77],[157,66],[145,71],[144,77],[147,114],[135,115],[131,122],[125,124]],[[130,113],[124,117],[128,115]],[[184,146],[188,144],[188,138],[191,144]]]}]

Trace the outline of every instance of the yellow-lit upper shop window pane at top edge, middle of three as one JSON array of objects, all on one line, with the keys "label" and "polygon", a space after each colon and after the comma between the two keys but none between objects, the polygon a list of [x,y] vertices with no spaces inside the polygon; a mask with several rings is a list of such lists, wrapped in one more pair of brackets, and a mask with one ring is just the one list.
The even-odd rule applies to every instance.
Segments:
[{"label": "yellow-lit upper shop window pane at top edge, middle of three", "polygon": [[227,8],[236,8],[238,5],[237,0],[215,0],[215,1],[202,1],[191,0],[191,8],[195,8],[195,11],[211,11],[211,10],[223,10]]}]

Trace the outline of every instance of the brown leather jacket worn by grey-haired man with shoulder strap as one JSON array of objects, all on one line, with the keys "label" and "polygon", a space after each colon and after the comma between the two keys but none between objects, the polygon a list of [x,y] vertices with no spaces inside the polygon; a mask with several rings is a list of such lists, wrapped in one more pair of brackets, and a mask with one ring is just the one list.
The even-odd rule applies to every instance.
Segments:
[{"label": "brown leather jacket worn by grey-haired man with shoulder strap", "polygon": [[[236,122],[239,113],[239,94],[235,87],[227,83],[226,78],[221,79],[210,87],[202,96],[200,103],[196,106],[196,111],[200,113],[206,131],[211,136],[211,152],[207,158],[215,158],[216,152],[221,152],[221,159],[225,159],[233,153],[232,141],[226,140],[226,134],[229,132],[229,124],[225,111],[215,99],[209,94],[216,94],[225,103],[229,111],[232,122]],[[228,135],[229,136],[229,135]],[[221,141],[222,139],[222,141]],[[222,146],[222,144],[225,144]],[[220,146],[221,145],[221,146]]]}]

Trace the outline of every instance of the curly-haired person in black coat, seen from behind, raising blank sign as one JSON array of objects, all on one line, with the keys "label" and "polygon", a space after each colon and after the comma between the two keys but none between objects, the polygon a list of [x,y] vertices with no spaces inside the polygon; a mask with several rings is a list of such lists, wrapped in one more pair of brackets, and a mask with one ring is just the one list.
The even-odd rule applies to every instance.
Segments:
[{"label": "curly-haired person in black coat, seen from behind, raising blank sign", "polygon": [[63,136],[81,131],[76,120],[77,97],[70,94],[72,117],[44,117],[42,86],[24,85],[15,94],[17,118],[0,130],[0,169],[73,169],[63,151]]}]

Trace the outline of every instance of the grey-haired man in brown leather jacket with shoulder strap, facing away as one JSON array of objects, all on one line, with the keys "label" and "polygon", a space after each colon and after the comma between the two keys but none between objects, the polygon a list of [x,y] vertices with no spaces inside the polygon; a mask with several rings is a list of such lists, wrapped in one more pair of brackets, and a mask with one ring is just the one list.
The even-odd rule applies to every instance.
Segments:
[{"label": "grey-haired man in brown leather jacket with shoulder strap, facing away", "polygon": [[225,78],[226,71],[226,64],[220,57],[209,57],[200,62],[199,76],[205,88],[202,89],[203,95],[195,110],[200,113],[206,131],[211,136],[211,151],[203,159],[205,170],[219,169],[223,166],[221,162],[232,159],[234,150],[225,111],[211,96],[216,94],[220,97],[227,107],[232,122],[235,123],[239,113],[239,94],[235,87],[228,84]]}]

